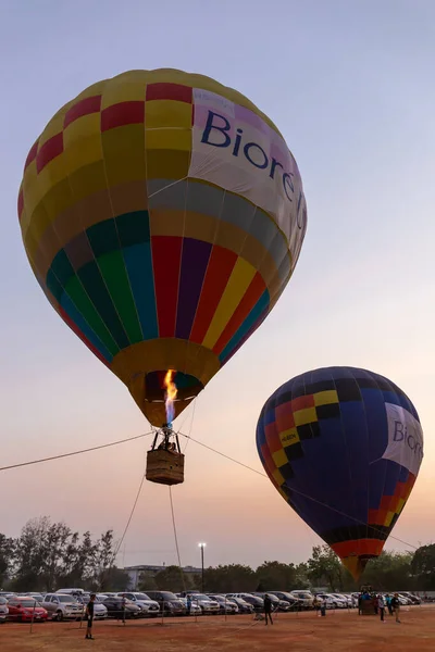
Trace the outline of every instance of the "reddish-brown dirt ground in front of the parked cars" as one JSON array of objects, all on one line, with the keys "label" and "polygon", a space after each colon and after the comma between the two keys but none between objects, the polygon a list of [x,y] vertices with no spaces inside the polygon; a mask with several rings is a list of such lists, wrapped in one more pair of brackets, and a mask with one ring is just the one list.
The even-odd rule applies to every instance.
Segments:
[{"label": "reddish-brown dirt ground in front of the parked cars", "polygon": [[95,641],[85,640],[78,623],[29,625],[8,623],[0,626],[3,652],[275,652],[278,647],[291,652],[334,650],[334,652],[424,652],[435,649],[435,609],[402,607],[401,625],[386,617],[383,625],[375,616],[350,612],[279,614],[273,626],[264,626],[251,616],[166,618],[161,620],[116,620],[95,623]]}]

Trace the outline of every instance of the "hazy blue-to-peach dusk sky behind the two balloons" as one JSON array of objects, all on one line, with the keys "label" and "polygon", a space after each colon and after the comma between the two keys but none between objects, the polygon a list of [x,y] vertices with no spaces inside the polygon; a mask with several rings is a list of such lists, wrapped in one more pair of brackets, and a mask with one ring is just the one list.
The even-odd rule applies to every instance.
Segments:
[{"label": "hazy blue-to-peach dusk sky behind the two balloons", "polygon": [[[269,114],[298,162],[309,215],[289,286],[199,397],[192,436],[262,471],[257,418],[282,383],[326,365],[383,374],[409,394],[425,431],[420,477],[393,534],[428,542],[434,34],[432,0],[1,0],[0,466],[147,430],[121,381],[40,291],[16,196],[29,147],[67,100],[126,70],[178,67],[237,88]],[[48,514],[121,534],[148,446],[1,473],[0,531],[15,536]],[[201,540],[207,563],[253,565],[302,561],[319,541],[269,480],[192,442],[173,494],[184,564],[199,563]],[[167,488],[148,482],[120,563],[175,560]]]}]

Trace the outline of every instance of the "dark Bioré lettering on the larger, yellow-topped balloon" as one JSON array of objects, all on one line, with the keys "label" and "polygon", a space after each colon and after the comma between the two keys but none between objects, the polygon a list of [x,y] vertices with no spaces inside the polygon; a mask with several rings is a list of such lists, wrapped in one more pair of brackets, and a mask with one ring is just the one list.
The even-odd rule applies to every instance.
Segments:
[{"label": "dark Bior\u00e9 lettering on the larger, yellow-topped balloon", "polygon": [[[236,128],[236,137],[232,140],[229,135],[231,128],[232,125],[227,117],[209,109],[201,142],[212,147],[229,147],[233,156],[245,156],[251,165],[259,170],[264,170],[271,179],[274,179],[279,175],[282,177],[284,192],[288,201],[293,202],[295,200],[295,186],[293,183],[293,177],[295,175],[291,172],[286,172],[283,164],[275,158],[268,156],[258,142],[244,142],[244,130],[241,128]],[[299,192],[297,200],[299,208],[302,200],[301,192]]]}]

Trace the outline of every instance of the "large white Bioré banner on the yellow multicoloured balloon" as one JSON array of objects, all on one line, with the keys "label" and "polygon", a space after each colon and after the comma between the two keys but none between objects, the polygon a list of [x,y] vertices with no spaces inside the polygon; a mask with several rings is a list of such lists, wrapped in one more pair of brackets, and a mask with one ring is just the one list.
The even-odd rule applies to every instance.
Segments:
[{"label": "large white Bior\u00e9 banner on the yellow multicoloured balloon", "polygon": [[194,88],[188,176],[236,192],[269,213],[287,238],[294,264],[307,229],[307,204],[296,161],[259,115]]}]

